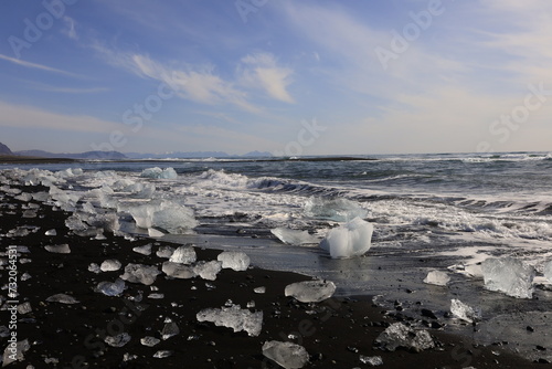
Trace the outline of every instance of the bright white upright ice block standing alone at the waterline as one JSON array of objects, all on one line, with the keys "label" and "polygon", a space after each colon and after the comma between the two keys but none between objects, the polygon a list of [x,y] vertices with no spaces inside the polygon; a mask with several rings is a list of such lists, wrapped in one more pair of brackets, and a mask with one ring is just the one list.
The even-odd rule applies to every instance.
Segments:
[{"label": "bright white upright ice block standing alone at the waterline", "polygon": [[354,218],[330,230],[320,242],[320,247],[328,251],[332,259],[360,256],[370,250],[373,230],[369,222]]}]

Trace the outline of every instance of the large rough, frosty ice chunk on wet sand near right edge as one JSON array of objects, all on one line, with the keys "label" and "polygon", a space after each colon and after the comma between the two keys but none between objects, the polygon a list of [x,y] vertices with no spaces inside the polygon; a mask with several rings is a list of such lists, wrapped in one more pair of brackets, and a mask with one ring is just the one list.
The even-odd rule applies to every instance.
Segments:
[{"label": "large rough, frosty ice chunk on wet sand near right edge", "polygon": [[513,257],[489,257],[481,263],[485,288],[503,292],[517,298],[533,296],[533,278],[535,271],[532,266]]}]

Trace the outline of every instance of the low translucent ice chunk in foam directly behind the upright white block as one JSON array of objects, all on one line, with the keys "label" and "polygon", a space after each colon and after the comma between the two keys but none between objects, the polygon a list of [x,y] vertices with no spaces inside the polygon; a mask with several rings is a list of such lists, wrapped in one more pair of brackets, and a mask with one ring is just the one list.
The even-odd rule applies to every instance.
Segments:
[{"label": "low translucent ice chunk in foam directly behind the upright white block", "polygon": [[316,219],[348,222],[354,218],[367,218],[368,210],[362,209],[357,202],[347,199],[326,200],[309,198],[304,207],[305,215]]}]

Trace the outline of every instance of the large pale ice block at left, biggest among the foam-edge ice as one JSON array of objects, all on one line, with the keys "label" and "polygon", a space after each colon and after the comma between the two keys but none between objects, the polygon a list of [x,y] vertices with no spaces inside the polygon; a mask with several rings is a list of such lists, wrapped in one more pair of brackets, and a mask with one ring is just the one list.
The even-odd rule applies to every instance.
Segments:
[{"label": "large pale ice block at left, biggest among the foam-edge ice", "polygon": [[190,233],[190,230],[198,225],[191,209],[166,200],[151,200],[146,204],[129,208],[128,212],[137,226],[157,226],[172,234]]}]

